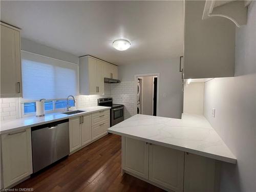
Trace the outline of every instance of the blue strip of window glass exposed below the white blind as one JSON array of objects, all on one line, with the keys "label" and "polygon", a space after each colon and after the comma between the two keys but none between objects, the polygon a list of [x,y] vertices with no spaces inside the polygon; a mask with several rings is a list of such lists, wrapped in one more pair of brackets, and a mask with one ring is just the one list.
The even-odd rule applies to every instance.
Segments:
[{"label": "blue strip of window glass exposed below the white blind", "polygon": [[[69,106],[75,106],[74,100],[69,99]],[[67,99],[45,101],[45,111],[54,111],[62,108],[67,108]],[[36,102],[24,103],[24,114],[36,112]]]}]

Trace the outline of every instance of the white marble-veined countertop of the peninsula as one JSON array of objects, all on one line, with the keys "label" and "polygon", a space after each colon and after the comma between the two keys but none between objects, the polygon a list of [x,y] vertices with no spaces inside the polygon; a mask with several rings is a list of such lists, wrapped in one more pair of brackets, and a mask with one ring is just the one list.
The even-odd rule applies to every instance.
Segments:
[{"label": "white marble-veined countertop of the peninsula", "polygon": [[182,119],[173,119],[138,114],[110,127],[108,132],[229,163],[237,162],[202,115],[182,114]]}]

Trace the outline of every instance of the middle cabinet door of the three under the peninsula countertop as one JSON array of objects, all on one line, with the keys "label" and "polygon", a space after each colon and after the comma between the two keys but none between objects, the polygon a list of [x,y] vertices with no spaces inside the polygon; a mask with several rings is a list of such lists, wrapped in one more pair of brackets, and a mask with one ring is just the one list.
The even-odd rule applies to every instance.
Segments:
[{"label": "middle cabinet door of the three under the peninsula countertop", "polygon": [[149,179],[174,191],[183,191],[184,152],[150,144]]}]

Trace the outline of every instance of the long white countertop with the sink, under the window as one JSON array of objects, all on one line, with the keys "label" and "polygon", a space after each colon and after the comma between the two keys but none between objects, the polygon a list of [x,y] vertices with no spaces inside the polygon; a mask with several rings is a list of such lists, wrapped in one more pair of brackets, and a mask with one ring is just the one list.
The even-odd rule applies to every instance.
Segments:
[{"label": "long white countertop with the sink, under the window", "polygon": [[69,118],[80,116],[80,115],[86,115],[86,114],[90,114],[90,113],[94,113],[94,112],[106,110],[106,109],[110,109],[110,107],[108,107],[108,106],[90,106],[88,108],[77,109],[77,110],[86,111],[86,112],[82,112],[82,113],[78,113],[78,114],[65,115],[62,113],[49,113],[49,114],[46,114],[46,116],[44,116],[44,117],[30,116],[30,117],[25,117],[25,118],[20,118],[20,119],[1,121],[0,134],[18,131],[21,129],[26,129],[31,126],[50,123],[50,122],[58,121],[58,120],[62,120],[62,119],[69,119]]}]

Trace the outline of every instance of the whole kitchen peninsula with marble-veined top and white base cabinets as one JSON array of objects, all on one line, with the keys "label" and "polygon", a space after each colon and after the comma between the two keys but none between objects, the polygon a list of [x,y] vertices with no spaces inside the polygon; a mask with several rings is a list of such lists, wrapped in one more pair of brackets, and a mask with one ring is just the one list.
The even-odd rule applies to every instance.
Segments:
[{"label": "whole kitchen peninsula with marble-veined top and white base cabinets", "polygon": [[237,159],[201,115],[135,115],[108,129],[122,136],[122,172],[165,190],[217,191],[220,161]]}]

